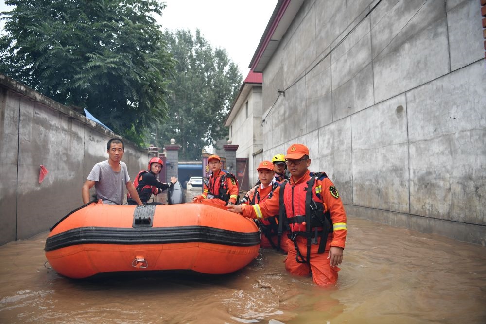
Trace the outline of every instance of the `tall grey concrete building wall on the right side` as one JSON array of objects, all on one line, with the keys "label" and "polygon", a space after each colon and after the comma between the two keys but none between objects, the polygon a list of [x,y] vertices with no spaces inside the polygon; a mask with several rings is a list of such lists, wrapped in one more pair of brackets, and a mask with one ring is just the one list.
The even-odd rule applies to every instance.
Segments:
[{"label": "tall grey concrete building wall on the right side", "polygon": [[263,71],[263,155],[304,143],[348,214],[485,245],[480,1],[377,3],[304,2]]}]

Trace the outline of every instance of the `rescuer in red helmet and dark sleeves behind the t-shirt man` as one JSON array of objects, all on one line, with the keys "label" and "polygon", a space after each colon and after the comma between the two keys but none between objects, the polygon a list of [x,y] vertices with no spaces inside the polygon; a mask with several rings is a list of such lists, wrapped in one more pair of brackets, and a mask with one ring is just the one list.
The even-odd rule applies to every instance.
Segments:
[{"label": "rescuer in red helmet and dark sleeves behind the t-shirt man", "polygon": [[[155,196],[162,191],[171,188],[177,182],[176,177],[171,177],[171,182],[160,182],[157,179],[158,174],[164,167],[164,162],[159,157],[153,157],[149,161],[148,169],[142,170],[137,174],[133,182],[133,186],[137,189],[140,200],[143,205],[164,205],[163,203],[152,202],[149,199],[154,194]],[[137,205],[137,202],[132,199],[130,193],[127,194],[128,205]]]}]

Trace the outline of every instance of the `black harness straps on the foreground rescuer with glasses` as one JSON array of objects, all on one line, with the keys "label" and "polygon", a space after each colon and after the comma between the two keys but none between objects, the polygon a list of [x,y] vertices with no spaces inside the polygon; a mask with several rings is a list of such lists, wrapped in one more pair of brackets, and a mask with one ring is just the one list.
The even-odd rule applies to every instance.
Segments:
[{"label": "black harness straps on the foreground rescuer with glasses", "polygon": [[[330,213],[329,210],[324,212],[324,205],[321,202],[316,202],[314,199],[312,199],[312,188],[314,186],[315,179],[319,179],[320,177],[326,177],[325,173],[313,173],[311,176],[311,179],[307,181],[307,188],[304,188],[306,190],[306,196],[305,196],[305,215],[298,215],[294,217],[287,217],[287,212],[285,210],[285,204],[283,202],[283,193],[286,184],[289,182],[289,180],[285,180],[281,185],[280,185],[280,194],[279,194],[279,215],[278,215],[278,235],[281,235],[283,233],[283,226],[284,222],[287,222],[288,224],[301,224],[303,222],[306,222],[306,230],[305,232],[301,231],[292,231],[291,227],[290,228],[290,234],[289,234],[289,239],[291,239],[294,242],[295,246],[295,251],[297,253],[297,256],[295,257],[295,260],[298,263],[309,263],[311,259],[311,244],[312,244],[312,238],[314,241],[314,244],[317,244],[317,238],[320,236],[321,241],[319,243],[319,248],[317,250],[317,253],[324,253],[326,249],[326,242],[328,240],[328,235],[330,232],[332,232],[332,221],[330,218]],[[322,227],[322,231],[319,231],[318,228]],[[297,240],[296,237],[297,235],[302,236],[307,238],[307,258],[304,258],[304,256],[300,253],[299,248],[297,246]]]}]

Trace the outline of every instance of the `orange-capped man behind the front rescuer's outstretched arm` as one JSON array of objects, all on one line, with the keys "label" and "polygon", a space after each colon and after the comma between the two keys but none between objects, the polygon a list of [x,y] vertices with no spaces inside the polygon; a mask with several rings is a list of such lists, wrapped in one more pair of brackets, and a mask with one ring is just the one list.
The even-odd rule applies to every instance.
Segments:
[{"label": "orange-capped man behind the front rescuer's outstretched arm", "polygon": [[[283,156],[283,155],[282,155]],[[264,202],[266,199],[272,198],[273,191],[278,188],[279,183],[275,180],[274,165],[271,161],[262,161],[258,165],[258,179],[260,185],[256,185],[252,190],[248,191],[245,197],[248,201],[243,204],[255,205]],[[261,218],[256,221],[261,232],[260,247],[264,249],[274,248],[287,252],[287,230],[278,235],[278,215]]]}]

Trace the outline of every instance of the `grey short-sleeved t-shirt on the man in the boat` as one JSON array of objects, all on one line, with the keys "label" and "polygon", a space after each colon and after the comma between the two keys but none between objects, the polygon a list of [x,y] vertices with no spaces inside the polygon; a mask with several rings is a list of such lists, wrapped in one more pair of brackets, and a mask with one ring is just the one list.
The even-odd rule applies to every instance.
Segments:
[{"label": "grey short-sleeved t-shirt on the man in the boat", "polygon": [[130,181],[130,176],[125,162],[120,162],[120,165],[120,172],[115,172],[108,160],[96,163],[87,177],[87,180],[96,181],[96,196],[103,200],[103,204],[123,204],[126,183]]}]

